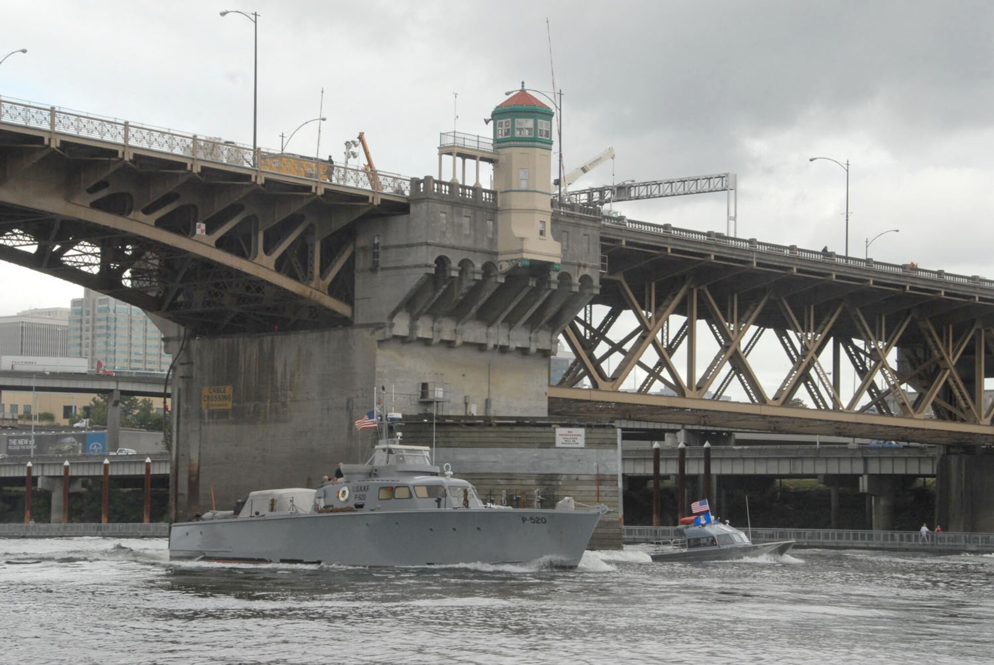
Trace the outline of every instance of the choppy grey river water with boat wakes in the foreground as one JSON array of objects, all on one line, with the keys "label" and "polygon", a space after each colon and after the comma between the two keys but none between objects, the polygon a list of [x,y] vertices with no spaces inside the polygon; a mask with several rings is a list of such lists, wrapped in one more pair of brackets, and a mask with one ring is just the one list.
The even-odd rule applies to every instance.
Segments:
[{"label": "choppy grey river water with boat wakes in the foreground", "polygon": [[367,570],[0,540],[2,663],[990,663],[994,557]]}]

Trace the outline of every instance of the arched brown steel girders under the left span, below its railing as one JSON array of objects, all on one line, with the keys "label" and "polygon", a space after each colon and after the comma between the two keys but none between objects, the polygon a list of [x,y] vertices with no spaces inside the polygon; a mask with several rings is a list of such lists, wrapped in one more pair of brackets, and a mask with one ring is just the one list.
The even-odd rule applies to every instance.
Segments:
[{"label": "arched brown steel girders under the left span, below its railing", "polygon": [[[368,198],[336,202],[168,170],[174,167],[119,155],[69,160],[46,146],[5,152],[0,255],[199,334],[350,321],[349,224],[373,209]],[[195,222],[206,231],[198,233]],[[220,297],[238,284],[245,288]],[[232,312],[212,314],[212,307]]]}]

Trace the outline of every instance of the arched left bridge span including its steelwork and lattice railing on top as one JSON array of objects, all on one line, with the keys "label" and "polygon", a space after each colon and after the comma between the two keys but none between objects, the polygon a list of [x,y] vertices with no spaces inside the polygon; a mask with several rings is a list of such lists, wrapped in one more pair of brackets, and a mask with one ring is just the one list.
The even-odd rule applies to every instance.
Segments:
[{"label": "arched left bridge span including its steelwork and lattice railing on top", "polygon": [[365,173],[308,177],[295,171],[310,161],[263,155],[263,175],[211,152],[238,146],[7,100],[0,111],[0,260],[197,334],[347,325],[353,222],[408,209]]}]

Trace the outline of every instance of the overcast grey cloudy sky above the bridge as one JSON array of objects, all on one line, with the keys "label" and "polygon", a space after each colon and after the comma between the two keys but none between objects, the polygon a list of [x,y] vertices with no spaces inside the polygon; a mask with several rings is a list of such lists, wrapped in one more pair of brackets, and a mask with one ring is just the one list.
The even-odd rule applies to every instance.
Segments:
[{"label": "overcast grey cloudy sky above the bridge", "polygon": [[[739,235],[994,277],[994,3],[49,2],[0,0],[0,96],[251,143],[317,117],[322,155],[366,133],[383,171],[433,174],[438,133],[519,87],[563,91],[576,188],[733,172]],[[453,93],[458,93],[457,96]],[[457,118],[455,116],[458,116]],[[288,149],[317,150],[317,123]],[[726,227],[724,195],[638,201],[630,217]],[[0,315],[78,287],[0,264]],[[17,285],[10,288],[8,285]]]}]

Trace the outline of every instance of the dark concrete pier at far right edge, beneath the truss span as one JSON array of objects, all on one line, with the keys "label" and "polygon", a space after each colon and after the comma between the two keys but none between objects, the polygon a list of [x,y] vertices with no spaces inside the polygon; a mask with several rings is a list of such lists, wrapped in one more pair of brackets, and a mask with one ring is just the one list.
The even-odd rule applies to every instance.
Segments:
[{"label": "dark concrete pier at far right edge, beneath the truss span", "polygon": [[992,485],[990,449],[946,449],[935,468],[935,523],[944,531],[994,531]]}]

